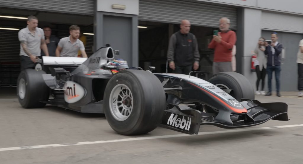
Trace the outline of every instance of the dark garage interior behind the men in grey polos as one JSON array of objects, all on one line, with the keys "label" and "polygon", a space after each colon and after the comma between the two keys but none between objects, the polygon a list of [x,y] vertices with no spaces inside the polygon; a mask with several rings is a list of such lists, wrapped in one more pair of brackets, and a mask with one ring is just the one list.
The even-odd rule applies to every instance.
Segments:
[{"label": "dark garage interior behind the men in grey polos", "polygon": [[[69,36],[69,26],[78,25],[86,38],[85,51],[88,56],[93,54],[93,16],[52,13],[31,10],[17,10],[2,8],[0,15],[26,18],[35,15],[38,18],[38,27],[50,26],[52,35],[64,38]],[[0,18],[0,87],[14,87],[20,72],[20,42],[18,32],[26,27],[26,19]]]}]

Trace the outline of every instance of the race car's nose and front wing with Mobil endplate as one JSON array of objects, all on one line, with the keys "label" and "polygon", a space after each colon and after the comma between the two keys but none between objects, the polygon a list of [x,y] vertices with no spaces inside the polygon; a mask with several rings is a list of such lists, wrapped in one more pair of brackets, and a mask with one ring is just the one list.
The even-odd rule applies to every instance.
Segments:
[{"label": "race car's nose and front wing with Mobil endplate", "polygon": [[[169,129],[196,134],[200,125],[242,128],[259,125],[270,119],[288,120],[286,103],[260,103],[257,100],[243,100],[240,103],[225,91],[197,77],[183,74],[155,75],[162,82],[169,104],[161,126]],[[193,109],[191,105],[181,106],[184,103],[201,103],[206,112],[202,112],[201,108]]]}]

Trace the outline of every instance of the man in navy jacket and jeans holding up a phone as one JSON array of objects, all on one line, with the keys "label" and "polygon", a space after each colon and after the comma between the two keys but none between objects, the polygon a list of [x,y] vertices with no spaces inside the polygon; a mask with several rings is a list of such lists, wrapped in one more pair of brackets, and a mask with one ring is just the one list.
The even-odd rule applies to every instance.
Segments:
[{"label": "man in navy jacket and jeans holding up a phone", "polygon": [[266,49],[264,51],[267,56],[267,74],[268,74],[268,92],[265,96],[271,96],[271,77],[272,72],[275,71],[277,96],[280,97],[280,71],[281,71],[281,51],[282,44],[278,43],[278,33],[271,33],[271,44],[266,42]]}]

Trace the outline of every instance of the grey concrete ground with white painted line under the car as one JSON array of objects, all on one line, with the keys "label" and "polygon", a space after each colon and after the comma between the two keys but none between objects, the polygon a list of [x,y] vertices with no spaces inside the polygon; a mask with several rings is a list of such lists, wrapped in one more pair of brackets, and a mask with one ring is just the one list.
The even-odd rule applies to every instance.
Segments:
[{"label": "grey concrete ground with white painted line under the car", "polygon": [[[1,164],[212,163],[255,164],[303,161],[303,97],[255,97],[288,103],[289,121],[270,120],[241,129],[201,126],[198,135],[161,127],[122,136],[103,114],[78,113],[47,105],[24,109],[16,88],[0,88]],[[275,95],[275,94],[274,94]]]}]

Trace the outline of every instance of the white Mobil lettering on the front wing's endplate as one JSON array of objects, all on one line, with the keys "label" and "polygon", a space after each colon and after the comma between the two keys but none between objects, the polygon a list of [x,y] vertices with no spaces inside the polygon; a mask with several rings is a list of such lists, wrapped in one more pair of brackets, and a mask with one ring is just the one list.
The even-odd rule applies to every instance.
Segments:
[{"label": "white Mobil lettering on the front wing's endplate", "polygon": [[184,116],[178,118],[178,114],[171,113],[171,116],[168,118],[167,125],[175,126],[179,129],[189,130],[191,125],[191,117],[184,119]]}]

